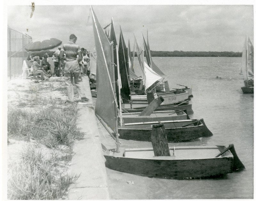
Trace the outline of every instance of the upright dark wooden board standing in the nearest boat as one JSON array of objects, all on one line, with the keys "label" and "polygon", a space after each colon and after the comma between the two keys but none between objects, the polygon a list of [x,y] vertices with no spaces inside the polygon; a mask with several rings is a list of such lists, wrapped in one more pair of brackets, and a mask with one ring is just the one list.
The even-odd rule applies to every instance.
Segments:
[{"label": "upright dark wooden board standing in the nearest boat", "polygon": [[151,142],[155,156],[171,156],[163,123],[152,126]]}]

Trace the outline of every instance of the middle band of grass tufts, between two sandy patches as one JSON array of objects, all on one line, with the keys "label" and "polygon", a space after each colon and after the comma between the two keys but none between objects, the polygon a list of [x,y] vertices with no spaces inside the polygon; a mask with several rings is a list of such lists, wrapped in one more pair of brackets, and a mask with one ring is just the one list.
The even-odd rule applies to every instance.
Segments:
[{"label": "middle band of grass tufts, between two sandy patches", "polygon": [[47,147],[70,146],[74,140],[84,136],[76,126],[75,104],[68,104],[64,109],[51,106],[36,113],[9,109],[7,119],[8,137],[15,135],[25,140],[35,139]]}]

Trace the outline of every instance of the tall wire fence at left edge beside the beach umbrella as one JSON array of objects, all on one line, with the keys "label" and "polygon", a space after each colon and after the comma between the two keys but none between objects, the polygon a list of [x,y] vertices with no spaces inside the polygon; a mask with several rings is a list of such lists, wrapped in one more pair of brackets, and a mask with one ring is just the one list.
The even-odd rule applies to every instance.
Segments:
[{"label": "tall wire fence at left edge beside the beach umbrella", "polygon": [[23,60],[28,57],[25,47],[31,41],[31,36],[7,27],[7,75],[9,79],[22,74]]}]

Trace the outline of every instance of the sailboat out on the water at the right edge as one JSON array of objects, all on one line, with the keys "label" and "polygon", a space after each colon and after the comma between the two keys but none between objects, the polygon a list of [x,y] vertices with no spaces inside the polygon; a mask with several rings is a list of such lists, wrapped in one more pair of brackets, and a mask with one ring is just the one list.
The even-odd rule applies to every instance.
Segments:
[{"label": "sailboat out on the water at the right edge", "polygon": [[254,69],[253,69],[253,62],[254,62],[254,48],[250,38],[245,39],[243,55],[242,55],[242,71],[244,77],[244,87],[241,87],[242,91],[247,93],[254,93]]}]

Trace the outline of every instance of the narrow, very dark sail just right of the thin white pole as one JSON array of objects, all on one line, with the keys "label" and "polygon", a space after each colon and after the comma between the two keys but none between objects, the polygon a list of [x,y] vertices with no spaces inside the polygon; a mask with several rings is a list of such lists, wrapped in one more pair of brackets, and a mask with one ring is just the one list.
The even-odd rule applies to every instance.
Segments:
[{"label": "narrow, very dark sail just right of the thin white pole", "polygon": [[121,82],[122,82],[122,88],[121,88],[121,97],[123,100],[123,103],[129,103],[130,102],[130,84],[129,84],[129,57],[128,57],[128,51],[126,48],[126,45],[124,43],[124,36],[122,33],[122,29],[120,27],[120,39],[119,39],[119,49],[118,49],[118,55],[119,55],[119,68],[120,68],[120,76],[121,76]]}]

